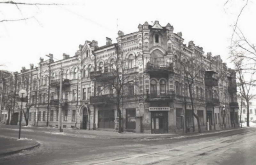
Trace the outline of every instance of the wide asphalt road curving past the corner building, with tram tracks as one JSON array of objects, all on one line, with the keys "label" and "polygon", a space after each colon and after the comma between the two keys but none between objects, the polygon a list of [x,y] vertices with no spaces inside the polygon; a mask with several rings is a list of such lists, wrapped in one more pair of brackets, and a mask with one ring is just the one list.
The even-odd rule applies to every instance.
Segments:
[{"label": "wide asphalt road curving past the corner building, with tram tracks", "polygon": [[[17,130],[0,129],[0,134],[17,137]],[[200,138],[155,140],[77,138],[37,131],[24,131],[22,135],[23,137],[36,140],[41,146],[31,151],[2,157],[0,158],[1,165],[96,164],[103,162],[116,164],[116,160],[123,160],[123,164],[131,164],[132,155],[151,154],[154,157],[154,152],[162,152],[172,148],[182,148],[184,155],[178,155],[179,157],[176,157],[177,161],[175,161],[175,158],[169,163],[167,163],[167,158],[163,160],[154,158],[154,164],[196,164],[201,161],[207,162],[206,164],[240,165],[255,164],[256,162],[256,157],[254,156],[256,154],[255,128],[232,130],[221,134],[201,136]],[[212,150],[206,151],[198,148],[198,146],[203,146],[204,148],[212,147],[214,146],[212,144],[220,145],[221,147],[217,149],[215,147]],[[190,150],[193,149],[204,152],[193,156],[194,159],[190,159],[191,157],[188,155],[191,156]],[[223,151],[224,149],[226,153]],[[218,155],[219,157],[216,157]],[[143,159],[143,157],[140,157],[140,160]],[[143,164],[141,162],[135,162],[134,164]]]}]

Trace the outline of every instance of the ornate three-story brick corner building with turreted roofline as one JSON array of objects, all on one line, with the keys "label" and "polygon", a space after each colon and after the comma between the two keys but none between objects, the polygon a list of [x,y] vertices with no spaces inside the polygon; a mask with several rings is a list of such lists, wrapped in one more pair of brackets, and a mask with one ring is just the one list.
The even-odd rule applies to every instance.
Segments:
[{"label": "ornate three-story brick corner building with turreted roofline", "polygon": [[[169,23],[164,27],[158,21],[140,24],[130,34],[118,31],[116,40],[112,43],[106,37],[106,45],[100,47],[97,41],[85,41],[73,57],[64,53],[63,59],[54,61],[49,54],[46,61],[40,58],[38,67],[31,64],[28,70],[3,77],[14,82],[13,93],[27,90],[29,124],[56,127],[61,109],[63,128],[118,130],[121,117],[126,131],[196,130],[180,59],[199,57],[195,65],[205,68],[195,77],[191,91],[201,129],[237,125],[236,74],[219,55],[204,56],[203,48],[193,41],[186,46],[181,32],[174,33]],[[1,91],[2,98],[8,95]],[[8,106],[8,114],[6,101],[1,100],[2,120],[7,114],[17,124],[19,107]]]}]

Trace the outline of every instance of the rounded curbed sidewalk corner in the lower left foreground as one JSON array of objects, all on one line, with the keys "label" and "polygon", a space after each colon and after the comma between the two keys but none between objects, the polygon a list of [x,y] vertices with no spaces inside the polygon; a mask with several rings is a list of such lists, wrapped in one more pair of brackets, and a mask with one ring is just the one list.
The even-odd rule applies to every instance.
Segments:
[{"label": "rounded curbed sidewalk corner in the lower left foreground", "polygon": [[10,138],[0,136],[0,157],[21,152],[22,150],[33,149],[40,144],[26,138]]}]

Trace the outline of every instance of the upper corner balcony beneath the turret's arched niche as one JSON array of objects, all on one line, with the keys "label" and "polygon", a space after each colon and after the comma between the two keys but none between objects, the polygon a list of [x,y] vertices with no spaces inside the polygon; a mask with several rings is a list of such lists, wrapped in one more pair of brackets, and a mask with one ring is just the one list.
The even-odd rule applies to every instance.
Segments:
[{"label": "upper corner balcony beneath the turret's arched niche", "polygon": [[166,62],[166,61],[157,61],[147,63],[146,66],[146,73],[168,73],[168,72],[173,72],[173,63]]}]

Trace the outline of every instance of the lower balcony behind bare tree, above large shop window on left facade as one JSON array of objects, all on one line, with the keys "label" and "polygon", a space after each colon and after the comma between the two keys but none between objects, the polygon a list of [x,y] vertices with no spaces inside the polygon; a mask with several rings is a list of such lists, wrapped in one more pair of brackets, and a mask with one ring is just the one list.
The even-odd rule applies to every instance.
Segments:
[{"label": "lower balcony behind bare tree, above large shop window on left facade", "polygon": [[101,105],[101,104],[109,104],[114,103],[114,95],[113,94],[106,94],[100,96],[91,96],[90,97],[90,104],[91,105]]}]

